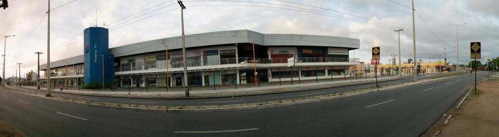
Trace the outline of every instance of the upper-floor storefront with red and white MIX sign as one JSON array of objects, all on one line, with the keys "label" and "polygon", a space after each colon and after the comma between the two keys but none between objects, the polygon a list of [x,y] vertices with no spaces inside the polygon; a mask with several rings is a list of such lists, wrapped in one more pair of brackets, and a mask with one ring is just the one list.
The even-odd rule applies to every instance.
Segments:
[{"label": "upper-floor storefront with red and white MIX sign", "polygon": [[271,63],[287,63],[287,59],[298,54],[296,47],[269,47]]}]

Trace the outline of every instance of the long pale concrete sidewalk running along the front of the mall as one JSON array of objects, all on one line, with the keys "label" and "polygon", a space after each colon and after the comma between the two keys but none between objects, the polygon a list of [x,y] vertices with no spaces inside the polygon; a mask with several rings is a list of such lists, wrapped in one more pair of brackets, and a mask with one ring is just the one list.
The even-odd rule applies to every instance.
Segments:
[{"label": "long pale concrete sidewalk running along the front of the mall", "polygon": [[[384,77],[378,78],[378,82],[398,80],[399,78]],[[185,97],[185,92],[99,92],[99,91],[77,91],[77,90],[63,90],[58,89],[51,91],[54,93],[85,95],[85,96],[99,96],[99,97],[115,97],[115,98],[142,98],[142,99],[200,99],[200,98],[222,98],[222,97],[237,97],[237,96],[252,96],[264,94],[277,94],[286,92],[297,92],[307,90],[326,89],[334,87],[343,87],[351,85],[360,85],[374,83],[375,79],[358,79],[346,81],[333,81],[333,82],[320,82],[320,83],[306,83],[295,85],[283,86],[269,86],[258,88],[241,88],[241,89],[224,89],[224,90],[206,90],[206,91],[190,91],[190,97]],[[37,90],[36,87],[15,87],[7,86],[10,89],[16,90]],[[46,91],[45,88],[40,88],[39,91]]]}]

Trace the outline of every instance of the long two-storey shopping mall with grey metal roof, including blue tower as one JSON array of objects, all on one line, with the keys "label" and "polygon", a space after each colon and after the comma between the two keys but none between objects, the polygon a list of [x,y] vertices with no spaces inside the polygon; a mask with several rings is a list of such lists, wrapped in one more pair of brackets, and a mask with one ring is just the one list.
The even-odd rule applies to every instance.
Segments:
[{"label": "long two-storey shopping mall with grey metal roof, including blue tower", "polygon": [[[75,87],[119,79],[118,87],[166,87],[167,83],[176,87],[250,84],[256,79],[290,81],[291,77],[343,78],[350,76],[350,66],[358,65],[358,59],[349,58],[348,51],[360,46],[360,40],[354,38],[251,30],[186,35],[186,83],[181,36],[114,48],[108,48],[108,43],[106,28],[85,29],[84,45],[78,49],[83,55],[50,63],[51,85]],[[294,66],[288,67],[289,58],[293,58]],[[43,86],[46,64],[40,65],[40,70],[45,71],[40,78]]]}]

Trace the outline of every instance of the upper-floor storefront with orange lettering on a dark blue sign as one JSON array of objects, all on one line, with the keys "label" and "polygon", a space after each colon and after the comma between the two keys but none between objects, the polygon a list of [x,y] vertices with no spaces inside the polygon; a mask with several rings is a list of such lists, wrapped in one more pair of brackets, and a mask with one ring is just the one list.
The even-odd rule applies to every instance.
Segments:
[{"label": "upper-floor storefront with orange lettering on a dark blue sign", "polygon": [[327,62],[324,47],[298,47],[298,62]]}]

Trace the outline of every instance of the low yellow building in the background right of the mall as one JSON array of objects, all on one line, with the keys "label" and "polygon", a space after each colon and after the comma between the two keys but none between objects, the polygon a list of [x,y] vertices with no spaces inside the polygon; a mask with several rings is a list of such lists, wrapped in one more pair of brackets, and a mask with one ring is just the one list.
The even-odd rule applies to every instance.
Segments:
[{"label": "low yellow building in the background right of the mall", "polygon": [[[444,71],[445,66],[444,62],[423,62],[423,63],[417,63],[421,68],[420,73],[436,73],[436,72],[441,72]],[[378,65],[378,73],[397,73],[397,68],[399,64],[396,66],[392,66],[391,64],[383,64],[383,65]],[[414,63],[404,63],[402,64],[402,74],[413,74],[414,72]]]}]

